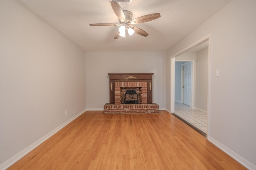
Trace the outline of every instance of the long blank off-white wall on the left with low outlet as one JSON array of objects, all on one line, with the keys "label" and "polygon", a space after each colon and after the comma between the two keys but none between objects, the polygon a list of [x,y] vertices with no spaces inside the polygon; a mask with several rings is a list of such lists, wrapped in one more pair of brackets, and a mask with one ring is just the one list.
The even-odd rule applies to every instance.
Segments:
[{"label": "long blank off-white wall on the left with low outlet", "polygon": [[16,0],[1,0],[0,169],[85,109],[84,51]]}]

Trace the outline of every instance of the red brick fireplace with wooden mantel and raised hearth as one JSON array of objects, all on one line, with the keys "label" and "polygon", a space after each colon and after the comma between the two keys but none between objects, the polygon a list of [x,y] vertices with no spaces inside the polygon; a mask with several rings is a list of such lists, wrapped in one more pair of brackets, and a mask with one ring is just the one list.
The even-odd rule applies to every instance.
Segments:
[{"label": "red brick fireplace with wooden mantel and raised hearth", "polygon": [[[132,73],[109,75],[110,103],[105,104],[104,113],[159,113],[159,106],[152,103],[152,75],[154,73]],[[135,90],[140,104],[122,104],[127,90]]]}]

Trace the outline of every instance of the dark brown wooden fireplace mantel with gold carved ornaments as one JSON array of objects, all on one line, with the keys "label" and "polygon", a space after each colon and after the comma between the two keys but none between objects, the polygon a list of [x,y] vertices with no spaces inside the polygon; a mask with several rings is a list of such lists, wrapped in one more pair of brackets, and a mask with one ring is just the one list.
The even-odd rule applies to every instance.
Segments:
[{"label": "dark brown wooden fireplace mantel with gold carved ornaments", "polygon": [[115,94],[116,85],[118,82],[122,84],[122,82],[146,82],[147,89],[147,103],[152,104],[152,75],[154,73],[108,73],[109,75],[109,96],[110,96],[110,104],[116,104],[115,98],[117,97]]}]

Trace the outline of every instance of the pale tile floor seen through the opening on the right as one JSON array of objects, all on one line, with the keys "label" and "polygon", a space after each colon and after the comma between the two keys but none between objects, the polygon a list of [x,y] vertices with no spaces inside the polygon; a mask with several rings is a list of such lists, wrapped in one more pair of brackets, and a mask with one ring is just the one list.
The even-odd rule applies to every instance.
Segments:
[{"label": "pale tile floor seen through the opening on the right", "polygon": [[188,121],[204,133],[207,133],[207,113],[198,109],[190,109],[190,106],[175,102],[174,113]]}]

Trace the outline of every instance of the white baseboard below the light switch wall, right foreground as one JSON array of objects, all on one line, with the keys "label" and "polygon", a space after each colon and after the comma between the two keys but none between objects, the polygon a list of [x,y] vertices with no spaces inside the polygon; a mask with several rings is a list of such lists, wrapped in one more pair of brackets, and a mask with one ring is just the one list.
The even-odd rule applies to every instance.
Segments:
[{"label": "white baseboard below the light switch wall, right foreground", "polygon": [[256,170],[256,166],[252,163],[248,162],[248,160],[242,158],[238,154],[236,154],[234,151],[228,149],[226,146],[222,145],[222,143],[216,141],[214,138],[208,136],[208,140],[213,143],[216,147],[223,150],[226,154],[234,158],[237,162],[248,168],[249,170]]}]

